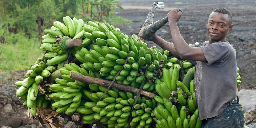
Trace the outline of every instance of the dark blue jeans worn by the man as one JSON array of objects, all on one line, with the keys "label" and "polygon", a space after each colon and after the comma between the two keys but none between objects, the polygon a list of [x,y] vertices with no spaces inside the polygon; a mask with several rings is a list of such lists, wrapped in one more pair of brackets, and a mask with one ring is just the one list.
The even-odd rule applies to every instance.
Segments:
[{"label": "dark blue jeans worn by the man", "polygon": [[244,114],[236,100],[228,102],[219,116],[202,120],[201,128],[243,128]]}]

